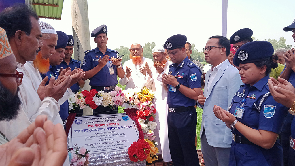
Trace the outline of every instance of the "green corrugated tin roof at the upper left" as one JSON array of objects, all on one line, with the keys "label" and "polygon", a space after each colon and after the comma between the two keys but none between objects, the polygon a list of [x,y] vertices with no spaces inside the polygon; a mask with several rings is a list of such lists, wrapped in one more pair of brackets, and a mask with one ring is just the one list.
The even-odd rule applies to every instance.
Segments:
[{"label": "green corrugated tin roof at the upper left", "polygon": [[32,7],[40,18],[61,19],[63,0],[32,0]]}]

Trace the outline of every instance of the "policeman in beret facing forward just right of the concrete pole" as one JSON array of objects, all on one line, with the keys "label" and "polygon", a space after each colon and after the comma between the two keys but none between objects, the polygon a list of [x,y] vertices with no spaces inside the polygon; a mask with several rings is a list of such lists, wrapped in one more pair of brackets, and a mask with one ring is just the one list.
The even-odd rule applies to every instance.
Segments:
[{"label": "policeman in beret facing forward just right of the concrete pole", "polygon": [[[117,76],[123,78],[125,75],[121,65],[122,59],[117,59],[119,53],[106,47],[108,41],[107,32],[106,25],[101,25],[92,31],[91,37],[94,37],[97,47],[85,51],[82,65],[82,69],[85,71],[83,80],[89,79],[91,89],[104,92],[112,91],[118,84]],[[118,110],[112,110],[101,105],[93,110],[93,115],[109,113],[118,113]]]}]

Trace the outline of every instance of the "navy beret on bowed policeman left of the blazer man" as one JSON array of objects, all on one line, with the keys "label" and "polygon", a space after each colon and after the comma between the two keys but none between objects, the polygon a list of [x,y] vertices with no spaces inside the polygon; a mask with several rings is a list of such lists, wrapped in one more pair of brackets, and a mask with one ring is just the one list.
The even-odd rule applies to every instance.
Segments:
[{"label": "navy beret on bowed policeman left of the blazer man", "polygon": [[174,35],[167,39],[163,47],[167,50],[181,48],[184,47],[186,40],[187,38],[185,35]]}]

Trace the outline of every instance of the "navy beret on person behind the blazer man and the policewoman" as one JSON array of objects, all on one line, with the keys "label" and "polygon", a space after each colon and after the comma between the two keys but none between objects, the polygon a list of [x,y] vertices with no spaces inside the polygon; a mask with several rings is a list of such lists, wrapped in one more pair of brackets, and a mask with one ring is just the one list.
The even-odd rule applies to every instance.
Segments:
[{"label": "navy beret on person behind the blazer man and the policewoman", "polygon": [[232,37],[230,37],[230,44],[235,44],[235,43],[239,43],[240,41],[243,40],[250,40],[253,41],[253,39],[251,38],[253,35],[253,31],[249,28],[243,28],[238,30],[237,32],[235,32]]}]

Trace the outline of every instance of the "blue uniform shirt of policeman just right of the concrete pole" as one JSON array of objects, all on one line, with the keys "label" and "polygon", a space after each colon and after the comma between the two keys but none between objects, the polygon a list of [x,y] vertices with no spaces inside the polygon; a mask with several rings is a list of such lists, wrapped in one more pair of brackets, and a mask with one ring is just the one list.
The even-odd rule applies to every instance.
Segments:
[{"label": "blue uniform shirt of policeman just right of the concrete pole", "polygon": [[[85,54],[83,60],[83,71],[88,71],[93,69],[95,66],[98,65],[99,57],[103,58],[104,55],[109,55],[109,57],[117,58],[119,53],[117,51],[111,50],[106,48],[106,53],[102,54],[98,47],[95,49],[90,50]],[[117,77],[117,67],[115,65],[110,65],[112,61],[106,63],[106,65],[97,72],[93,77],[89,79],[89,85],[91,86],[99,86],[99,87],[111,87],[118,84],[118,77]],[[109,67],[113,67],[114,74],[110,74]]]}]

